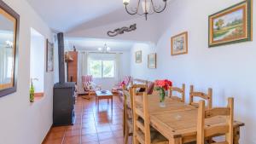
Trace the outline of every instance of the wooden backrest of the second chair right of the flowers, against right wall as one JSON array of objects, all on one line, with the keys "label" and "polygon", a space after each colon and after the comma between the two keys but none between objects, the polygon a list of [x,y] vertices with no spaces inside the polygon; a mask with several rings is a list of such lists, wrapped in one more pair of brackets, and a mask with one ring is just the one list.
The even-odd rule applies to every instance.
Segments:
[{"label": "wooden backrest of the second chair right of the flowers, against right wall", "polygon": [[207,101],[207,109],[212,108],[212,89],[209,88],[207,94],[203,92],[198,92],[194,90],[194,86],[190,85],[189,92],[189,105],[198,107],[198,103],[194,102],[195,97],[200,97],[204,101]]}]

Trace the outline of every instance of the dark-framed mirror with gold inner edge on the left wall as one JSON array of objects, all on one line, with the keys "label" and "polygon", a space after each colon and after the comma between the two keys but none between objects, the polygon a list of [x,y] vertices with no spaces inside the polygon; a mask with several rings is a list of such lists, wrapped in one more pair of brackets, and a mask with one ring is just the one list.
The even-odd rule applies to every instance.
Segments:
[{"label": "dark-framed mirror with gold inner edge on the left wall", "polygon": [[0,97],[16,91],[20,15],[0,0]]}]

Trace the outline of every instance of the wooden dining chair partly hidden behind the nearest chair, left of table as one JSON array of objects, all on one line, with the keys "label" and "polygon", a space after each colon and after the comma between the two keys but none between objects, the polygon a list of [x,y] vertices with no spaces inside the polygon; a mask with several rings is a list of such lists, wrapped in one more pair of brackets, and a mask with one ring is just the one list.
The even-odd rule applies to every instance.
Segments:
[{"label": "wooden dining chair partly hidden behind the nearest chair, left of table", "polygon": [[124,93],[124,133],[125,133],[125,144],[128,143],[128,137],[133,135],[133,123],[132,123],[132,106],[133,96],[132,88],[123,89]]}]

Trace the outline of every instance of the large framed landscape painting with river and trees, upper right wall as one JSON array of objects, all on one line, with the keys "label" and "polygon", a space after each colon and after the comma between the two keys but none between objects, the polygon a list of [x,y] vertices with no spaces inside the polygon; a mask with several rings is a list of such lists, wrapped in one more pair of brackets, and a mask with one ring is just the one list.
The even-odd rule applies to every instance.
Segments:
[{"label": "large framed landscape painting with river and trees, upper right wall", "polygon": [[252,40],[251,0],[209,16],[209,47]]}]

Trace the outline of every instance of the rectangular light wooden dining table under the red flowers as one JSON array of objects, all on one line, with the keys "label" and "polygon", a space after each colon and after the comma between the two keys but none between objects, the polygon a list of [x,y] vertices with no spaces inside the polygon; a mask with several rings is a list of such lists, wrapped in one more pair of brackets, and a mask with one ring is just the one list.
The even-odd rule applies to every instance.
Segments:
[{"label": "rectangular light wooden dining table under the red flowers", "polygon": [[[165,100],[166,107],[160,107],[159,95],[148,95],[148,103],[150,125],[164,135],[169,144],[196,141],[197,107],[169,97]],[[226,124],[226,117],[207,118],[205,124],[209,128]],[[234,121],[234,144],[239,144],[241,126],[244,124]]]}]

